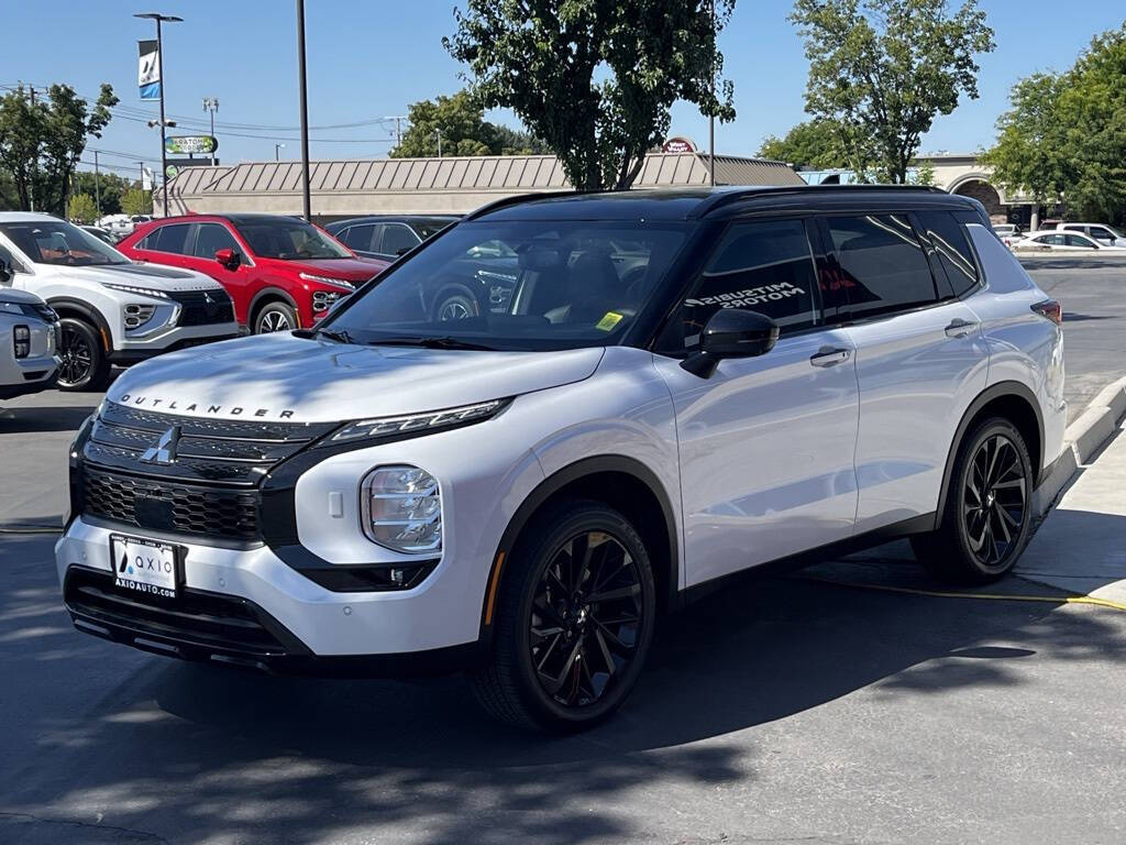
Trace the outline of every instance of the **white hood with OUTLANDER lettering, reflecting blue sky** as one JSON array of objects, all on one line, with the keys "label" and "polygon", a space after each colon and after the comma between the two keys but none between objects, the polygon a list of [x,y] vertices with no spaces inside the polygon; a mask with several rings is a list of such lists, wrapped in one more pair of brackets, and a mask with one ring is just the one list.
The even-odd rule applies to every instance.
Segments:
[{"label": "white hood with OUTLANDER lettering, reflecting blue sky", "polygon": [[570,384],[589,377],[602,352],[373,347],[283,332],[162,355],[128,370],[106,395],[111,402],[186,416],[343,421]]}]

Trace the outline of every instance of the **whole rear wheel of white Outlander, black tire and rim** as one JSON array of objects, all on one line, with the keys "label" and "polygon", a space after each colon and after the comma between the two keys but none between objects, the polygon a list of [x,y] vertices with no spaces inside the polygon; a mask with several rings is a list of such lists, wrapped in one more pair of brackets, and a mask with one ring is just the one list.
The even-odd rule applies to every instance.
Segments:
[{"label": "whole rear wheel of white Outlander, black tire and rim", "polygon": [[983,420],[958,446],[938,530],[911,537],[915,559],[954,584],[1004,577],[1028,543],[1031,500],[1025,438],[1007,419]]}]

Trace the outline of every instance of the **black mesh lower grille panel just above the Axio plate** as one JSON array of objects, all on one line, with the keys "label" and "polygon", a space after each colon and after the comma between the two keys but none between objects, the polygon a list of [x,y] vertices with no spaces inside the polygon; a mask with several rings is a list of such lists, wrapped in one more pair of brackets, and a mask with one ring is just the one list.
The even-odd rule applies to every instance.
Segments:
[{"label": "black mesh lower grille panel just above the Axio plate", "polygon": [[137,528],[257,540],[258,492],[82,471],[83,513]]}]

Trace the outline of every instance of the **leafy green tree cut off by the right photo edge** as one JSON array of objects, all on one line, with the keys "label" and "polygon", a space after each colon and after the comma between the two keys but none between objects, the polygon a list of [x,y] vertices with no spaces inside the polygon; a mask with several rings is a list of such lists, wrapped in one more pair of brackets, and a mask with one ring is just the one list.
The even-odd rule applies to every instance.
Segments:
[{"label": "leafy green tree cut off by the right photo edge", "polygon": [[1070,70],[1017,82],[985,161],[1007,189],[1069,217],[1126,222],[1126,24]]}]

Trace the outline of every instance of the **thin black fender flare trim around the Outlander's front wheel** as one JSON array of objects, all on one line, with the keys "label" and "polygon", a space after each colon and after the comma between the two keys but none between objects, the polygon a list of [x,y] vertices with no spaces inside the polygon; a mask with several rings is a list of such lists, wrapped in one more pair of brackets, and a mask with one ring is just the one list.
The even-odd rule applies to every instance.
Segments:
[{"label": "thin black fender flare trim around the Outlander's front wheel", "polygon": [[500,578],[504,568],[504,558],[512,550],[512,546],[516,545],[516,541],[517,537],[519,537],[520,532],[524,531],[525,526],[540,508],[540,506],[547,501],[547,499],[568,484],[579,481],[587,475],[592,475],[599,472],[619,472],[626,475],[632,475],[635,480],[644,484],[656,499],[664,518],[669,543],[668,595],[665,596],[667,606],[676,607],[679,604],[680,546],[677,533],[678,522],[672,509],[672,502],[669,500],[669,496],[664,490],[664,484],[661,483],[656,473],[654,473],[641,461],[633,457],[626,457],[624,455],[598,455],[595,457],[584,457],[581,461],[568,464],[561,470],[556,470],[554,473],[540,481],[539,484],[537,484],[536,488],[524,499],[520,507],[516,509],[511,519],[509,519],[508,527],[504,528],[500,543],[497,544],[497,551],[493,554],[492,566],[489,569],[489,578],[485,580],[485,595],[481,606],[480,640],[484,641],[490,635],[492,629],[492,611],[495,602],[497,589],[500,585]]}]

